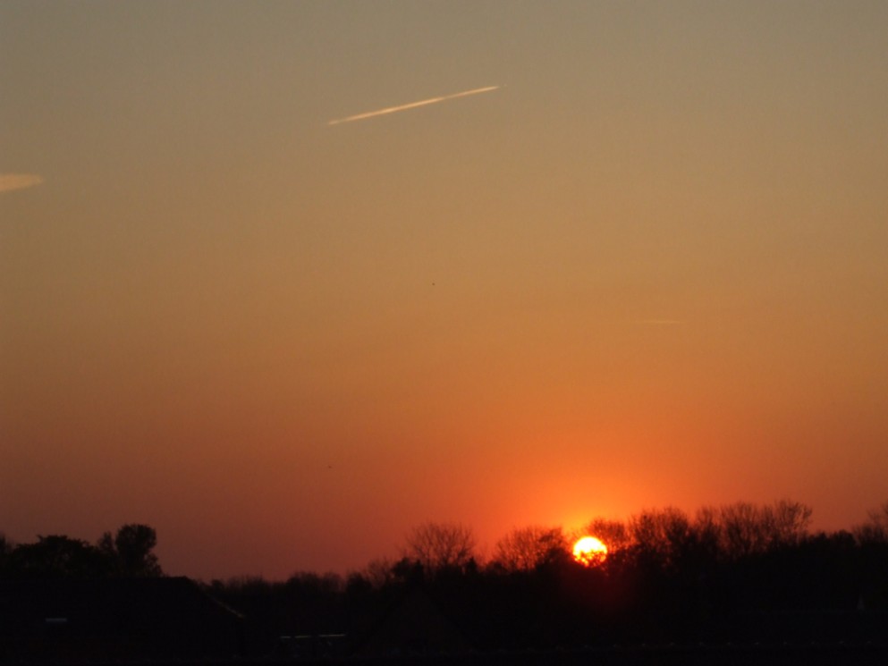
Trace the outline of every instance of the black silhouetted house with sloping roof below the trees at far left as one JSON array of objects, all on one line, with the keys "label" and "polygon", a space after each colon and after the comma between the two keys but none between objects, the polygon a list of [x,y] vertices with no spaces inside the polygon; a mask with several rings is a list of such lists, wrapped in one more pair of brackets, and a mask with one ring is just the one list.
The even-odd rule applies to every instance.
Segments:
[{"label": "black silhouetted house with sloping roof below the trees at far left", "polygon": [[0,662],[230,658],[243,618],[184,577],[0,580]]}]

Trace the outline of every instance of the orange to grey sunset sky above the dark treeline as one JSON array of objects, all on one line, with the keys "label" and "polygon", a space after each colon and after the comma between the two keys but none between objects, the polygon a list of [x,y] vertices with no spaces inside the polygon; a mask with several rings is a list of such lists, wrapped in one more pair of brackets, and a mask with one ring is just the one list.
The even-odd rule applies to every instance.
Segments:
[{"label": "orange to grey sunset sky above the dark treeline", "polygon": [[147,523],[208,580],[428,520],[862,522],[886,34],[881,0],[0,0],[0,530]]}]

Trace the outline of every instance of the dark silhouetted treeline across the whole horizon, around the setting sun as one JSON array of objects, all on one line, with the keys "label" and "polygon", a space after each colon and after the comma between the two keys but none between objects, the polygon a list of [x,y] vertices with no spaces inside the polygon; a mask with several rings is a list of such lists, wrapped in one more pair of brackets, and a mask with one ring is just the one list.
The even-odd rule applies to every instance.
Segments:
[{"label": "dark silhouetted treeline across the whole horizon, around the setting sun", "polygon": [[[285,581],[202,583],[242,613],[253,653],[283,636],[347,636],[349,653],[547,650],[734,642],[866,643],[888,636],[888,502],[849,530],[809,530],[805,504],[737,502],[596,518],[575,534],[520,527],[485,560],[470,527],[426,523],[396,560]],[[596,535],[604,562],[574,561]],[[0,541],[0,577],[157,577],[153,528],[96,544]],[[316,654],[317,655],[317,654]]]}]

